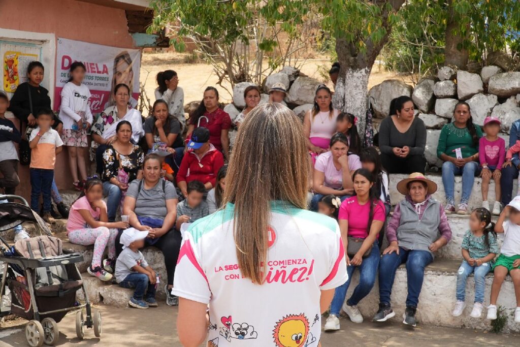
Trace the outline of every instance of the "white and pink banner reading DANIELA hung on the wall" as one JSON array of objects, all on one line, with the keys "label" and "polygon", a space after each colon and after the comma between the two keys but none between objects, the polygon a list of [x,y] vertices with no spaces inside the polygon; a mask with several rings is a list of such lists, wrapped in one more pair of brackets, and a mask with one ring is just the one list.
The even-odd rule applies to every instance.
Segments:
[{"label": "white and pink banner reading DANIELA hung on the wall", "polygon": [[137,106],[139,97],[139,68],[141,52],[97,45],[82,41],[58,38],[56,54],[56,86],[54,108],[60,107],[61,89],[69,80],[70,66],[81,61],[86,67],[85,84],[92,95],[89,99],[92,113],[100,113],[115,104],[113,88],[119,83],[128,85],[132,91],[130,103]]}]

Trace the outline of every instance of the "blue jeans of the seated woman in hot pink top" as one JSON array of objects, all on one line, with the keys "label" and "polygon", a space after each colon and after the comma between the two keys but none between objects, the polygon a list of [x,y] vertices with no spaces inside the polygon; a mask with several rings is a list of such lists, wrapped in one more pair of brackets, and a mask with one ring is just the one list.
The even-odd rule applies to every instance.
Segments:
[{"label": "blue jeans of the seated woman in hot pink top", "polygon": [[367,258],[363,258],[363,262],[359,266],[350,265],[347,266],[347,281],[337,287],[334,291],[334,298],[332,299],[332,303],[330,304],[330,313],[336,316],[340,316],[341,306],[343,305],[343,301],[345,301],[345,296],[347,295],[348,286],[350,285],[350,280],[352,279],[352,275],[354,274],[354,270],[359,268],[359,284],[356,286],[350,299],[347,300],[347,304],[349,306],[357,305],[361,299],[365,298],[368,293],[372,290],[375,282],[375,275],[378,272],[379,265],[379,246],[378,242],[374,242],[372,246],[372,251]]}]

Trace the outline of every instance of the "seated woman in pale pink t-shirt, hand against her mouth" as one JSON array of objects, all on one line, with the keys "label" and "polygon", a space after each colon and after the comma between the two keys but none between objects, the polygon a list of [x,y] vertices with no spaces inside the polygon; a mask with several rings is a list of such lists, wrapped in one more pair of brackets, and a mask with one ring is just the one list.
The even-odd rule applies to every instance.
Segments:
[{"label": "seated woman in pale pink t-shirt, hand against her mouth", "polygon": [[359,157],[348,151],[348,139],[337,133],[330,139],[330,151],[316,159],[313,173],[315,194],[310,201],[310,210],[318,211],[318,201],[324,195],[335,195],[342,201],[354,192],[352,175],[361,169]]}]

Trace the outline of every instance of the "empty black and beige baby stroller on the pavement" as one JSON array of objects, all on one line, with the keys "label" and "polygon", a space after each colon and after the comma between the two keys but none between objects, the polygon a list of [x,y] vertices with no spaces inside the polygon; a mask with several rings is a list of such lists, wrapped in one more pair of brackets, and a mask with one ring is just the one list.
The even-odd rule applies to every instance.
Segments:
[{"label": "empty black and beige baby stroller on the pavement", "polygon": [[[76,335],[84,337],[84,326],[94,328],[94,335],[101,336],[101,313],[92,312],[85,285],[75,263],[83,261],[80,253],[65,254],[59,238],[52,237],[46,223],[31,210],[25,199],[14,195],[1,195],[0,200],[12,199],[22,203],[0,204],[0,262],[2,286],[0,299],[6,285],[11,292],[10,312],[28,319],[25,338],[31,347],[54,345],[59,339],[57,322],[68,311],[76,312]],[[8,245],[2,232],[32,222],[41,236],[18,240],[14,247]],[[44,235],[45,234],[45,235]],[[1,267],[0,267],[1,268]],[[85,304],[76,304],[76,291],[83,290]],[[83,315],[86,309],[86,320]]]}]

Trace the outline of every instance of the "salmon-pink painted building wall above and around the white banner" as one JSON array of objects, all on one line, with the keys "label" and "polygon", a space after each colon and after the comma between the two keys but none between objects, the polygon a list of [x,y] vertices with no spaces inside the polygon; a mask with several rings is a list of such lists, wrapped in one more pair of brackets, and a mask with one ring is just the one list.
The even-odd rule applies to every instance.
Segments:
[{"label": "salmon-pink painted building wall above and around the white banner", "polygon": [[[123,9],[76,0],[0,0],[0,23],[4,29],[54,33],[56,38],[134,48]],[[54,71],[45,73],[54,74]],[[29,199],[28,166],[19,165],[19,176],[17,194]],[[59,189],[72,188],[66,149],[56,158],[55,178]]]}]

